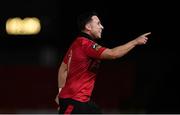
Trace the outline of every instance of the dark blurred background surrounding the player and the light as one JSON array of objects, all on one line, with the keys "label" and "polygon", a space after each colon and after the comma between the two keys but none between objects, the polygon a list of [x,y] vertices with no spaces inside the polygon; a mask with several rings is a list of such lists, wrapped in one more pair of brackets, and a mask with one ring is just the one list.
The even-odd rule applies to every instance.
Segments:
[{"label": "dark blurred background surrounding the player and the light", "polygon": [[[151,32],[146,45],[103,61],[92,100],[104,113],[180,113],[179,7],[174,1],[2,0],[0,113],[57,113],[57,73],[77,34],[76,17],[95,10],[99,43],[113,48]],[[8,35],[8,18],[37,17],[37,35]]]}]

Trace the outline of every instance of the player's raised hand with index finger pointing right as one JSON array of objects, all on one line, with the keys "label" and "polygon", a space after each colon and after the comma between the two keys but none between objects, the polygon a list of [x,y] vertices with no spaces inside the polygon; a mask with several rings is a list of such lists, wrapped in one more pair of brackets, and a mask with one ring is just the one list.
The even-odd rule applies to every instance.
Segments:
[{"label": "player's raised hand with index finger pointing right", "polygon": [[143,44],[146,44],[146,42],[148,41],[148,35],[150,35],[151,32],[148,32],[148,33],[145,33],[145,34],[142,34],[140,35],[139,37],[137,37],[135,39],[135,41],[137,42],[137,45],[143,45]]}]

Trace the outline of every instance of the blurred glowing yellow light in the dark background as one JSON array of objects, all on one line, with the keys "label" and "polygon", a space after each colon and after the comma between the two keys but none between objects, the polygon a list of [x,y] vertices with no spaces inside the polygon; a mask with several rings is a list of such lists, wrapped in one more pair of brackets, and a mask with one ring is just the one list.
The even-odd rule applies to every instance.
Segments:
[{"label": "blurred glowing yellow light in the dark background", "polygon": [[6,22],[6,32],[10,35],[34,35],[38,34],[40,30],[40,20],[35,17],[9,18]]}]

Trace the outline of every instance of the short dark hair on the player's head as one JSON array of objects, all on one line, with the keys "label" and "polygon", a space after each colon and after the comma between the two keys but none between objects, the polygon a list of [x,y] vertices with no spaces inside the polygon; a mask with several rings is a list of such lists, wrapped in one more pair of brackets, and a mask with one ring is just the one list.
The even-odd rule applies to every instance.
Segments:
[{"label": "short dark hair on the player's head", "polygon": [[77,25],[80,31],[85,29],[85,25],[89,21],[91,21],[92,16],[98,16],[98,14],[95,11],[89,11],[89,12],[82,13],[81,15],[77,17]]}]

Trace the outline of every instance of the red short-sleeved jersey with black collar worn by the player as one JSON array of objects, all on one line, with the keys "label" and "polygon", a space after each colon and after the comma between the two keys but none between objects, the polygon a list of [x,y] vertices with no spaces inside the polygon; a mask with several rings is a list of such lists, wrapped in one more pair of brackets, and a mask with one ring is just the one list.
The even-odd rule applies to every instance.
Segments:
[{"label": "red short-sleeved jersey with black collar worn by the player", "polygon": [[64,57],[63,62],[68,66],[68,75],[59,98],[71,98],[80,102],[90,99],[100,56],[106,48],[89,39],[88,35],[84,35],[76,38]]}]

